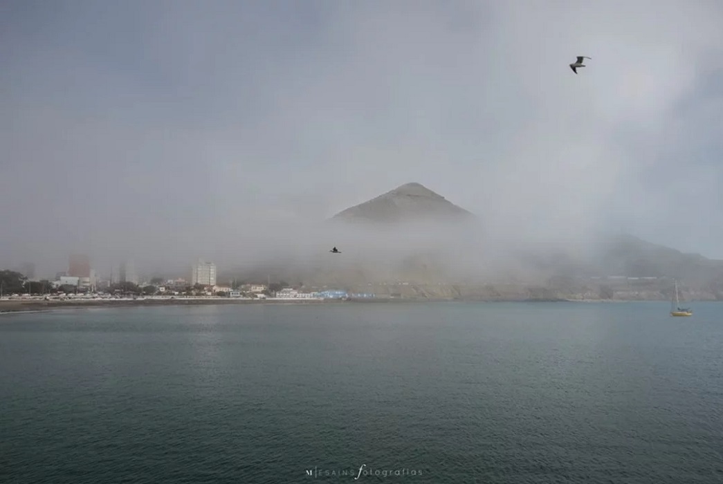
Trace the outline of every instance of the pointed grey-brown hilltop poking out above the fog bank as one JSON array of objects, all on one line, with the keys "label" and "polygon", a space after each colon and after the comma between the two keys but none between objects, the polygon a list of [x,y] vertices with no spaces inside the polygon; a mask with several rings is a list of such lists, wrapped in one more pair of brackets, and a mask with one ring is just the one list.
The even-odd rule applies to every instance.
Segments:
[{"label": "pointed grey-brown hilltop poking out above the fog bank", "polygon": [[352,222],[406,222],[459,220],[474,217],[444,196],[421,183],[406,183],[354,207],[342,210],[332,220]]}]

